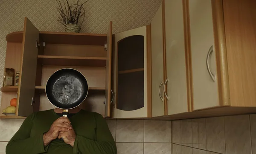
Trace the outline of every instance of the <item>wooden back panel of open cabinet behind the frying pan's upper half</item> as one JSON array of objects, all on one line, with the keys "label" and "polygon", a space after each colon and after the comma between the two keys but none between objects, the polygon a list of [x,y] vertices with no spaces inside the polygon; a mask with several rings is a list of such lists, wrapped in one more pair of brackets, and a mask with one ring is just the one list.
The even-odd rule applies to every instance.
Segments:
[{"label": "wooden back panel of open cabinet behind the frying pan's upper half", "polygon": [[[50,66],[44,65],[42,69],[42,82],[44,86],[47,83],[48,78],[57,70],[67,68],[65,66]],[[87,79],[89,87],[105,87],[105,67],[76,67],[70,66],[69,68],[80,71]]]}]

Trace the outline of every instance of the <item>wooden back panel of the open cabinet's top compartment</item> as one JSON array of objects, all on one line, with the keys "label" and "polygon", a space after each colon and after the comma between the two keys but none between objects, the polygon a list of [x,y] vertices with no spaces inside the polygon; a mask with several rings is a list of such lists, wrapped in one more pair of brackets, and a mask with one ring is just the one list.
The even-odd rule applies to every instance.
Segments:
[{"label": "wooden back panel of the open cabinet's top compartment", "polygon": [[106,57],[104,46],[101,45],[63,45],[46,44],[44,55],[47,56],[81,56]]}]

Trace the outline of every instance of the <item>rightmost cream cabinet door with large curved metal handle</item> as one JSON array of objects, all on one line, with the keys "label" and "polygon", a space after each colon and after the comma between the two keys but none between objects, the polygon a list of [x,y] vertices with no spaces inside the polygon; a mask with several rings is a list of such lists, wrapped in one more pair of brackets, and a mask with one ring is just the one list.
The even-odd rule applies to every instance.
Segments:
[{"label": "rightmost cream cabinet door with large curved metal handle", "polygon": [[219,106],[211,0],[189,0],[194,110]]}]

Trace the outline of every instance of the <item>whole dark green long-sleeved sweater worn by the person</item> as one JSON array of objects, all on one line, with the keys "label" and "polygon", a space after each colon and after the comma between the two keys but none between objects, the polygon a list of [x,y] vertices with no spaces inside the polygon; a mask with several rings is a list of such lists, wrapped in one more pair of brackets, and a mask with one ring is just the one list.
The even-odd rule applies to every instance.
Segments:
[{"label": "whole dark green long-sleeved sweater worn by the person", "polygon": [[80,110],[70,118],[74,147],[58,138],[44,147],[43,134],[60,118],[53,109],[29,115],[6,146],[6,154],[116,154],[116,144],[102,115]]}]

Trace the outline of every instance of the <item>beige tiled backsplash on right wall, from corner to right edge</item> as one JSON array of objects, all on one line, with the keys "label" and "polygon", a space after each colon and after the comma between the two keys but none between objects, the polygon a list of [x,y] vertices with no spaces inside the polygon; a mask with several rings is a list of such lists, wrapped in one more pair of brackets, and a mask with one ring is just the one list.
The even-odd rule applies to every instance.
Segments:
[{"label": "beige tiled backsplash on right wall, from corner to right edge", "polygon": [[256,154],[256,114],[172,121],[172,154]]}]

